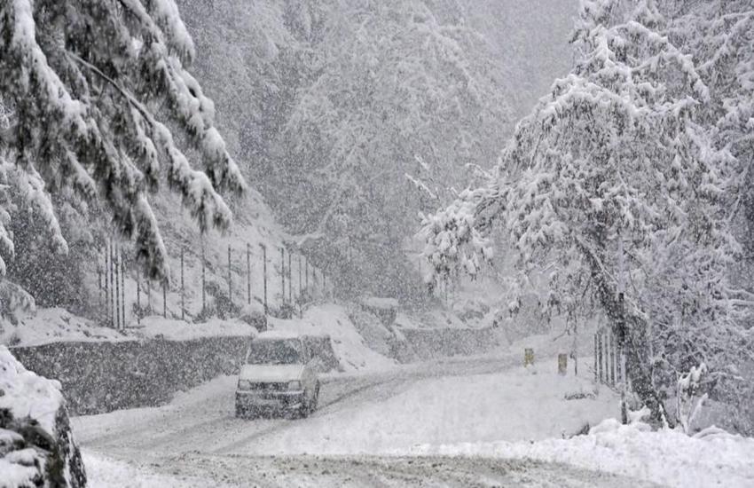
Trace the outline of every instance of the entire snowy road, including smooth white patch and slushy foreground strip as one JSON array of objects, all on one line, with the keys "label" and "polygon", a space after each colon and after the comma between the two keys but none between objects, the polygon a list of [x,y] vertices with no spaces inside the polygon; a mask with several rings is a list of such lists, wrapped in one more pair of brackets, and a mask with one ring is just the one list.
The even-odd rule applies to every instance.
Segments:
[{"label": "entire snowy road, including smooth white patch and slushy foreground strip", "polygon": [[565,402],[564,392],[588,382],[511,369],[517,360],[447,359],[327,378],[320,408],[305,420],[236,419],[236,379],[221,377],[169,405],[78,417],[73,425],[102,485],[134,486],[136,478],[108,478],[118,469],[102,469],[101,456],[122,469],[172,476],[143,486],[168,486],[166,479],[177,486],[648,485],[532,460],[391,455],[422,443],[561,437],[615,408],[604,392]]}]

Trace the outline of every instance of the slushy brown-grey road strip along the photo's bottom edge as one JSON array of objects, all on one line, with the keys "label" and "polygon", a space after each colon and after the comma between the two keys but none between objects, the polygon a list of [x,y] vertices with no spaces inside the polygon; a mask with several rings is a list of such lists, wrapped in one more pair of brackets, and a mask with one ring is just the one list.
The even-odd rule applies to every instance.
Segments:
[{"label": "slushy brown-grey road strip along the photo's bottom edge", "polygon": [[[134,468],[84,456],[93,486],[138,488],[259,488],[412,486],[642,488],[659,486],[624,476],[532,460],[377,456],[211,456],[187,454],[164,465]],[[158,470],[163,474],[155,474]]]}]

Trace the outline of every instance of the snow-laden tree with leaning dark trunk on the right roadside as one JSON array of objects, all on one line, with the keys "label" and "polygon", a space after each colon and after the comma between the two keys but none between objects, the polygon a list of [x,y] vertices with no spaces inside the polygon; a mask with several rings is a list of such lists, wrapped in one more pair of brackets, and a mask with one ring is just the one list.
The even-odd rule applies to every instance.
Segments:
[{"label": "snow-laden tree with leaning dark trunk on the right roadside", "polygon": [[424,222],[441,275],[458,256],[473,268],[497,221],[522,271],[546,272],[542,303],[596,305],[658,421],[664,383],[726,366],[741,336],[733,161],[697,120],[710,91],[666,28],[652,0],[584,1],[576,67],[518,125],[498,176]]}]

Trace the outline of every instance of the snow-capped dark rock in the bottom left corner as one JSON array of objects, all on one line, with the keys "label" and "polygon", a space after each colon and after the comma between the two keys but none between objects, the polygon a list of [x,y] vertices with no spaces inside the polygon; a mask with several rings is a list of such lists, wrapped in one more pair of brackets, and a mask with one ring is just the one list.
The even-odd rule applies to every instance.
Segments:
[{"label": "snow-capped dark rock in the bottom left corner", "polygon": [[0,487],[86,485],[60,383],[0,346]]}]

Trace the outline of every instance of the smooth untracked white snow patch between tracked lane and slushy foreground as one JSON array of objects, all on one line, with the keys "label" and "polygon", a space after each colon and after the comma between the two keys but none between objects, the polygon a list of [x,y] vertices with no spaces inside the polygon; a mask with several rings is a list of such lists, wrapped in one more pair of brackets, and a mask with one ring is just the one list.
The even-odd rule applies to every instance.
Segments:
[{"label": "smooth untracked white snow patch between tracked lane and slushy foreground", "polygon": [[[595,393],[584,378],[523,367],[388,382],[384,390],[262,437],[242,453],[373,454],[424,443],[560,438],[618,413],[618,398],[609,390]],[[583,397],[565,399],[574,393]]]}]

